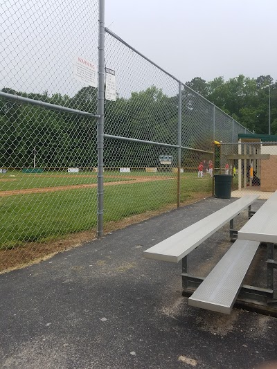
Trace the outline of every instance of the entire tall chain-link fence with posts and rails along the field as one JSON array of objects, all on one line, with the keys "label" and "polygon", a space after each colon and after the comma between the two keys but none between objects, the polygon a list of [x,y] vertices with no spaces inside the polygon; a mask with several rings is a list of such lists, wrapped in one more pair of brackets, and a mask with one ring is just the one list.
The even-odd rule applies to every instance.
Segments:
[{"label": "entire tall chain-link fence with posts and rails along the field", "polygon": [[105,28],[102,0],[4,1],[0,24],[1,270],[211,196],[212,142],[247,129]]}]

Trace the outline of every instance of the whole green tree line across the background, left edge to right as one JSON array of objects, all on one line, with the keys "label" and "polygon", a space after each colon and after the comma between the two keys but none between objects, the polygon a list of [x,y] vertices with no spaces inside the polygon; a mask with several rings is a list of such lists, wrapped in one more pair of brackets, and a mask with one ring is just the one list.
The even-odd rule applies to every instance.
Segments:
[{"label": "whole green tree line across the background, left edge to right", "polygon": [[[271,84],[271,134],[277,134],[277,83],[269,76],[256,79],[239,75],[224,81],[206,82],[193,78],[188,87],[213,102],[242,125],[258,134],[268,133],[269,91]],[[97,89],[84,87],[73,97],[55,93],[26,93],[4,88],[1,91],[72,109],[97,112]],[[199,105],[195,94],[183,91],[181,145],[211,150],[212,107]],[[199,120],[202,117],[202,120]],[[209,118],[208,118],[209,117]],[[133,92],[129,98],[118,96],[105,101],[105,133],[145,141],[177,144],[178,96],[167,96],[157,87]],[[206,127],[205,127],[206,125]],[[231,120],[230,120],[231,125]],[[139,146],[138,146],[139,145]],[[97,165],[97,120],[62,111],[35,107],[0,98],[0,166],[26,168],[95,167]],[[106,166],[157,166],[159,155],[172,155],[174,147],[105,140]],[[184,161],[198,160],[183,153]],[[193,165],[193,163],[191,163]]]}]

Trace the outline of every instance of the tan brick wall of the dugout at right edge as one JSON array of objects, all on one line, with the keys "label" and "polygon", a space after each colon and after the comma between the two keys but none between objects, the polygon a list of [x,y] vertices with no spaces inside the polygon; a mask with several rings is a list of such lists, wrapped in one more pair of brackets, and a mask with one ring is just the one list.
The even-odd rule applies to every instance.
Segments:
[{"label": "tan brick wall of the dugout at right edge", "polygon": [[277,155],[270,155],[270,159],[260,161],[260,189],[277,190]]}]

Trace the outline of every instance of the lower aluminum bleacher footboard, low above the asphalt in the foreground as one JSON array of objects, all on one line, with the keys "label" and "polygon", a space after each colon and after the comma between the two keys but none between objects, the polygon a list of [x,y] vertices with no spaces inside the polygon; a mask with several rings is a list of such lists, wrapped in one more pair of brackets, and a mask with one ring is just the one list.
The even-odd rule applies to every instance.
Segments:
[{"label": "lower aluminum bleacher footboard, low above the asphalt in the foreground", "polygon": [[188,298],[188,305],[231,314],[260,242],[237,240]]}]

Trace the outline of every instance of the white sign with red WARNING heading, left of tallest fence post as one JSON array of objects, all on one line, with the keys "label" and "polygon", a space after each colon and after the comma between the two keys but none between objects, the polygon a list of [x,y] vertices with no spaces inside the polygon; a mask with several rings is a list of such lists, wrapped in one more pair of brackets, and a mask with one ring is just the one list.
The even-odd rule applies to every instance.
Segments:
[{"label": "white sign with red WARNING heading, left of tallest fence post", "polygon": [[74,62],[74,77],[76,80],[97,87],[97,67],[93,62],[76,56]]}]

